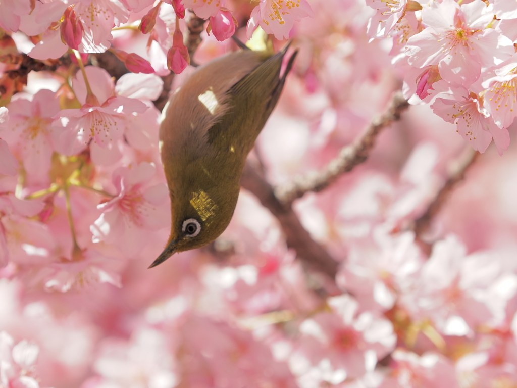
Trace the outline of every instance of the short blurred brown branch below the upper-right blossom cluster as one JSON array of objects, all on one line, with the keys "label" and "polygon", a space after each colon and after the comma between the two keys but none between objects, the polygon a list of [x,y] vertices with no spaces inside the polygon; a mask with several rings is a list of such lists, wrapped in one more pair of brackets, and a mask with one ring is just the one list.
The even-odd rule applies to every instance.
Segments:
[{"label": "short blurred brown branch below the upper-right blossom cluster", "polygon": [[479,157],[479,152],[474,151],[470,146],[460,156],[460,158],[453,162],[451,168],[452,173],[445,182],[444,186],[437,192],[434,200],[429,204],[427,210],[418,219],[415,220],[410,230],[415,232],[415,235],[421,240],[422,234],[429,230],[433,218],[442,210],[442,207],[450,197],[452,190],[454,190],[460,182],[465,178],[465,173],[474,164]]}]

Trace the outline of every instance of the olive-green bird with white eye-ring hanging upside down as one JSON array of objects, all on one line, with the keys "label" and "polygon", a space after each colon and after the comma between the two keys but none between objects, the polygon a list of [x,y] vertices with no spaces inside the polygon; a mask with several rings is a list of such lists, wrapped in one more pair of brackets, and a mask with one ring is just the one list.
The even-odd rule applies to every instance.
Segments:
[{"label": "olive-green bird with white eye-ring hanging upside down", "polygon": [[171,197],[171,235],[154,267],[214,241],[232,219],[246,157],[275,108],[297,52],[240,50],[201,66],[170,98],[160,153]]}]

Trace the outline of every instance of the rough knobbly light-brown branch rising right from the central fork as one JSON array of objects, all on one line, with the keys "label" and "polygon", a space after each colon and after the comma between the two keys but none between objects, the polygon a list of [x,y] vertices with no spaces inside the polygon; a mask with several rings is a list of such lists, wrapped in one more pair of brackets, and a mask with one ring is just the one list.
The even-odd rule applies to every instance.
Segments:
[{"label": "rough knobbly light-brown branch rising right from the central fork", "polygon": [[293,182],[275,189],[276,197],[284,204],[290,204],[308,191],[321,191],[337,178],[364,162],[375,145],[378,134],[392,122],[400,119],[400,114],[409,106],[401,92],[397,92],[388,111],[372,121],[364,135],[352,145],[343,147],[339,155],[320,170],[296,177]]}]

